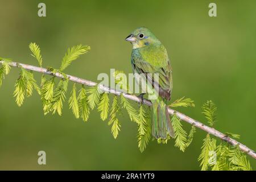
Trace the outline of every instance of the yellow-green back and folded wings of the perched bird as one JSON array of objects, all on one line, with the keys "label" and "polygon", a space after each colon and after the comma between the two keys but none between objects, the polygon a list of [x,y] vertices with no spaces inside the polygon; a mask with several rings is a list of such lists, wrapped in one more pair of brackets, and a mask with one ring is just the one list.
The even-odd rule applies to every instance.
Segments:
[{"label": "yellow-green back and folded wings of the perched bird", "polygon": [[[165,51],[165,49],[164,49]],[[144,73],[147,80],[158,90],[159,96],[170,100],[172,90],[172,71],[170,60],[166,51],[151,52],[151,55],[143,56],[143,53],[136,53],[131,57],[134,72]],[[166,55],[161,55],[162,53]],[[161,60],[159,60],[159,58]],[[152,73],[152,74],[148,74]],[[158,73],[158,81],[154,78],[154,73]]]}]

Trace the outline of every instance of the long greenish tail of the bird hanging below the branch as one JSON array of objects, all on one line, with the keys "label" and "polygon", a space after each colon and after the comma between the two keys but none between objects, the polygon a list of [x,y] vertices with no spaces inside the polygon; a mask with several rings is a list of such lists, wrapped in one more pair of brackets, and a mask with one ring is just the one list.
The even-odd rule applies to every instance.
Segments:
[{"label": "long greenish tail of the bird hanging below the branch", "polygon": [[152,135],[155,138],[166,139],[167,134],[174,138],[174,129],[164,100],[152,101]]}]

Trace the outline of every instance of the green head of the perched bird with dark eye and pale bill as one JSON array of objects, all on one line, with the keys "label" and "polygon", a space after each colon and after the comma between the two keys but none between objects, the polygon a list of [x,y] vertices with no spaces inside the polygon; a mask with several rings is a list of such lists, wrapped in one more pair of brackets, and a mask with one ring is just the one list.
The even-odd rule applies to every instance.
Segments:
[{"label": "green head of the perched bird with dark eye and pale bill", "polygon": [[155,35],[145,27],[136,28],[125,40],[133,44],[133,49],[160,43]]}]

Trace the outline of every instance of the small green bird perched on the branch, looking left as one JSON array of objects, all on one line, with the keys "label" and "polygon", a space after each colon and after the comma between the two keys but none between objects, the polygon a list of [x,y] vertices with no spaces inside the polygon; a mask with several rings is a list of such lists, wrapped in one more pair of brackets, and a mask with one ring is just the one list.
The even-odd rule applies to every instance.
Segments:
[{"label": "small green bird perched on the branch, looking left", "polygon": [[133,73],[141,75],[139,78],[135,77],[135,80],[138,83],[142,78],[149,85],[147,92],[145,88],[142,90],[152,102],[152,135],[157,139],[166,139],[168,135],[174,138],[174,129],[167,110],[167,101],[170,100],[172,92],[172,68],[166,48],[145,27],[135,29],[125,40],[133,46]]}]

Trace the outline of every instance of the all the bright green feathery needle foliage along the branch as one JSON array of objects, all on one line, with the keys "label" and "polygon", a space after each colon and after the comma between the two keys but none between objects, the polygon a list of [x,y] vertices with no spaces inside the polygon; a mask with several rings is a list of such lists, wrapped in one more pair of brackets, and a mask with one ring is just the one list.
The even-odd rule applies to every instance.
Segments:
[{"label": "all the bright green feathery needle foliage along the branch", "polygon": [[[35,43],[31,43],[29,48],[32,52],[32,56],[38,61],[40,67],[43,67],[43,58],[40,53],[40,48]],[[52,112],[52,114],[62,114],[63,102],[66,99],[66,94],[68,90],[69,78],[63,72],[74,60],[76,60],[80,55],[88,52],[89,46],[74,46],[68,48],[67,53],[61,61],[61,66],[59,69],[49,67],[48,72],[51,72],[51,78],[47,80],[46,76],[42,74],[40,87],[36,84],[32,71],[27,71],[20,65],[20,74],[18,80],[15,82],[14,97],[15,102],[18,106],[21,106],[26,97],[30,97],[34,89],[39,93],[42,104],[43,112],[47,114]],[[2,85],[2,79],[10,72],[11,60],[3,59],[0,57],[0,86]],[[64,78],[59,80],[56,84],[57,78],[55,74],[59,73]],[[129,85],[123,76],[122,71],[114,72],[115,84],[125,92],[130,93]],[[88,94],[88,95],[87,95]],[[110,104],[111,103],[111,104]],[[146,105],[140,105],[139,107],[134,107],[127,98],[121,94],[121,96],[114,95],[112,102],[109,99],[109,93],[102,92],[100,86],[92,86],[89,89],[85,88],[85,85],[81,85],[79,90],[79,96],[76,93],[76,84],[73,84],[70,97],[68,99],[69,109],[72,110],[75,118],[82,118],[83,121],[88,121],[90,109],[97,108],[100,112],[100,117],[103,121],[108,118],[108,125],[111,126],[111,133],[116,139],[118,137],[119,131],[121,130],[121,124],[117,115],[121,113],[122,109],[127,111],[131,121],[137,123],[138,127],[138,147],[141,152],[143,152],[147,144],[151,140],[151,109]],[[172,102],[170,107],[195,107],[194,101],[191,98],[182,97],[180,99]],[[207,101],[203,106],[203,114],[209,125],[214,126],[217,121],[217,107],[212,101]],[[185,149],[192,143],[193,137],[196,133],[196,126],[192,125],[191,130],[187,134],[187,131],[183,129],[183,123],[181,123],[180,118],[177,117],[175,113],[171,117],[171,122],[174,127],[175,146],[181,151]],[[226,137],[240,138],[240,135],[233,133],[226,133]],[[171,139],[168,136],[166,139],[158,139],[158,143],[166,144],[167,141]],[[211,138],[210,134],[207,134],[203,139],[203,146],[201,147],[201,153],[198,158],[201,166],[201,170],[252,170],[250,162],[246,159],[246,155],[241,152],[239,146],[232,147],[228,143],[220,142],[217,144],[216,138]]]}]

